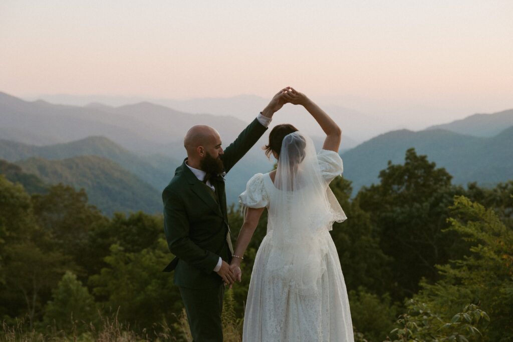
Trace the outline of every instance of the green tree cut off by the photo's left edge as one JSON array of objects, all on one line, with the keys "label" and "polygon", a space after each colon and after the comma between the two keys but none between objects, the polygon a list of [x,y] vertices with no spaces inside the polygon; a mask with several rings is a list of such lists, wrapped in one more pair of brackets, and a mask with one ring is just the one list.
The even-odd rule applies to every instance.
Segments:
[{"label": "green tree cut off by the photo's left edge", "polygon": [[48,236],[35,223],[30,196],[2,175],[0,234],[0,310],[8,317],[27,314],[32,327],[69,259],[42,248]]}]

